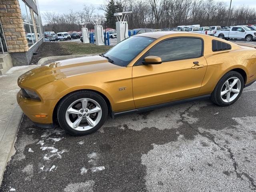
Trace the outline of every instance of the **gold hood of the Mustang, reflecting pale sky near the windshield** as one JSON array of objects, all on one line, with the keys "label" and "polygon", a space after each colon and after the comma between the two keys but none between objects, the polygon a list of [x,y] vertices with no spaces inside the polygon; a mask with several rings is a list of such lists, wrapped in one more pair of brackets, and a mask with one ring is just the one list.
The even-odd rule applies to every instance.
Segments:
[{"label": "gold hood of the Mustang, reflecting pale sky near the windshield", "polygon": [[34,68],[18,78],[21,88],[38,88],[49,82],[88,73],[113,70],[121,66],[108,62],[101,56],[87,56],[60,60]]}]

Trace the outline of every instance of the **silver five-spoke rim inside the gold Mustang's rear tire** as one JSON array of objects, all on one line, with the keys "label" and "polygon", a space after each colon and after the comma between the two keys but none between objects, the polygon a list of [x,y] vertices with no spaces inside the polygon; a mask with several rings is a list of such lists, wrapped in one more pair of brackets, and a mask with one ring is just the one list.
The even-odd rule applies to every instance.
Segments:
[{"label": "silver five-spoke rim inside the gold Mustang's rear tire", "polygon": [[237,77],[226,80],[221,88],[220,96],[222,101],[229,103],[236,99],[241,90],[241,81]]}]

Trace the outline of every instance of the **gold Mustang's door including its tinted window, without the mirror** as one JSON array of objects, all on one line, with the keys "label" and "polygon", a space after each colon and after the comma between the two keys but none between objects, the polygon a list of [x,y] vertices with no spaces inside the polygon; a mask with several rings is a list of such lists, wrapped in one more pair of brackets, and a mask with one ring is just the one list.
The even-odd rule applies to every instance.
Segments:
[{"label": "gold Mustang's door including its tinted window, without the mirror", "polygon": [[[161,64],[142,64],[158,56]],[[201,38],[172,38],[152,47],[132,69],[136,108],[198,96],[207,63]]]}]

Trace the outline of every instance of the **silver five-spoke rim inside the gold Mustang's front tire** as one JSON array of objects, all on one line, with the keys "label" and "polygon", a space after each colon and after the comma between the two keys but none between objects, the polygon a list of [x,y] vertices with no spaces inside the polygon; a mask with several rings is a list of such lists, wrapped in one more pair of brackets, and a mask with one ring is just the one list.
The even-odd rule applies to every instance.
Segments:
[{"label": "silver five-spoke rim inside the gold Mustang's front tire", "polygon": [[74,101],[66,110],[66,122],[78,131],[94,128],[100,122],[102,109],[93,99],[82,98]]}]

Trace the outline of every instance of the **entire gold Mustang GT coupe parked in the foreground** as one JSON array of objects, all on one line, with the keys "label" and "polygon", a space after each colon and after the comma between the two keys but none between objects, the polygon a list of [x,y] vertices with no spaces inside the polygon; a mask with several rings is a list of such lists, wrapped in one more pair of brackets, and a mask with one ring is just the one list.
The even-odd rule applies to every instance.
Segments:
[{"label": "entire gold Mustang GT coupe parked in the foreground", "polygon": [[228,106],[256,80],[256,47],[189,32],[132,36],[100,56],[62,60],[18,78],[17,100],[38,126],[72,135],[114,116],[211,97]]}]

